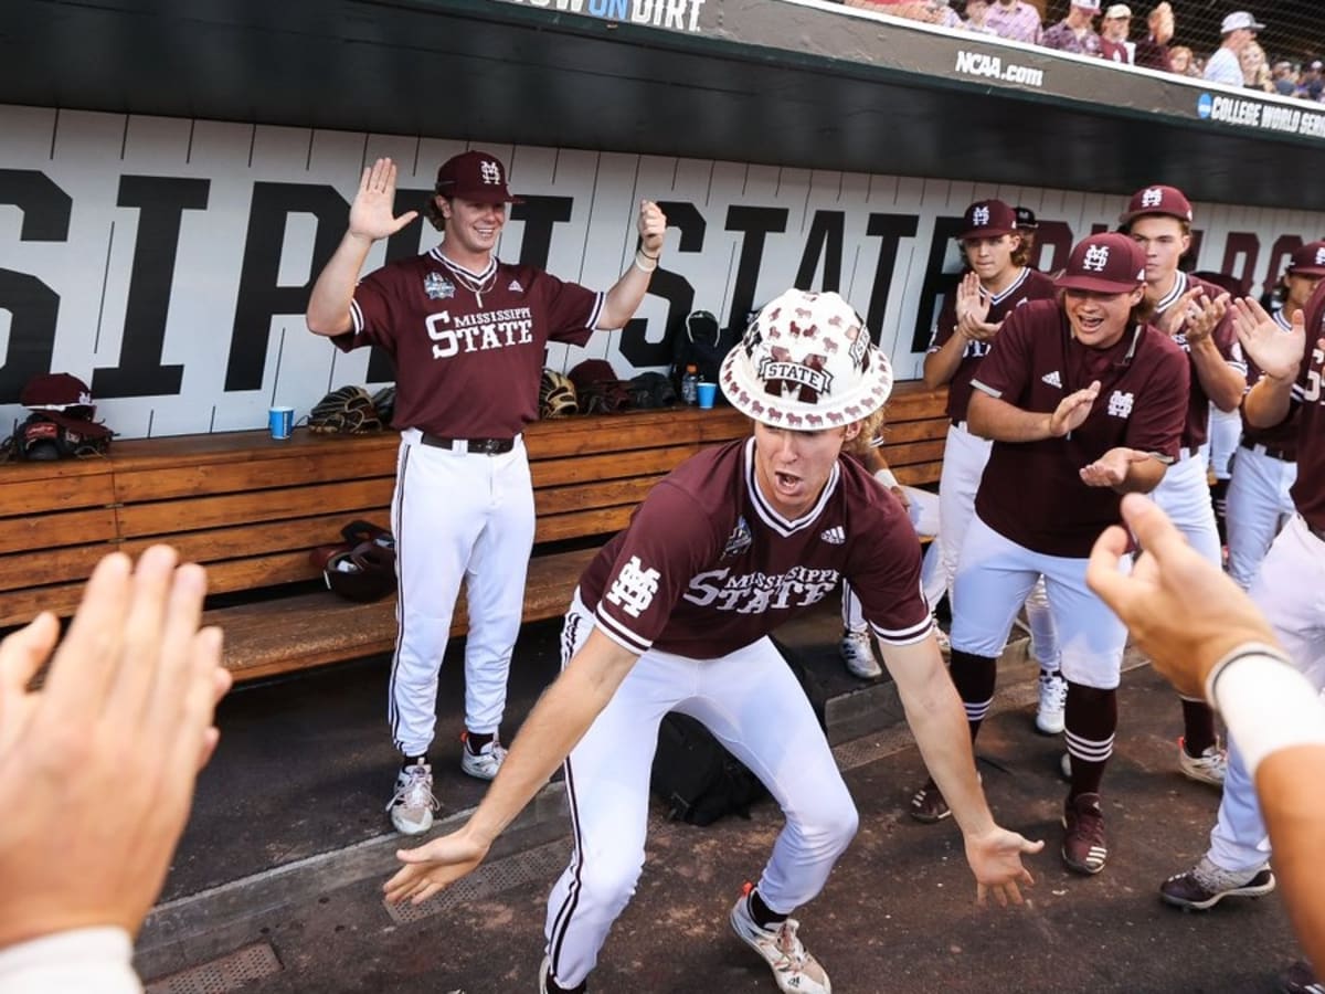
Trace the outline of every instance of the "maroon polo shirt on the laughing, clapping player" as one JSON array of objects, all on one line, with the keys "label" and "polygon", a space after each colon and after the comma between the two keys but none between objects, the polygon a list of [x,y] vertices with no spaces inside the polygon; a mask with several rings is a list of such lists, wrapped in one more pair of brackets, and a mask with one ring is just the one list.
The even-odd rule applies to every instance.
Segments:
[{"label": "maroon polo shirt on the laughing, clapping player", "polygon": [[1086,486],[1080,470],[1120,445],[1171,463],[1187,410],[1187,360],[1159,329],[1136,325],[1108,349],[1072,337],[1055,301],[1018,307],[974,384],[1023,411],[1049,414],[1100,380],[1081,427],[1063,439],[995,441],[975,493],[975,513],[999,534],[1047,555],[1075,558],[1118,521],[1120,494]]}]

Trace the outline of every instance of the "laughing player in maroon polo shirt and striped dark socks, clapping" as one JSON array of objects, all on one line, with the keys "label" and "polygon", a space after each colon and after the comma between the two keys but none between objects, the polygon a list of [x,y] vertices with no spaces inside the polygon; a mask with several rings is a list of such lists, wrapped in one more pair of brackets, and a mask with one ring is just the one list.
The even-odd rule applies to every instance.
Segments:
[{"label": "laughing player in maroon polo shirt and striped dark socks, clapping", "polygon": [[[1145,253],[1126,236],[1079,243],[1056,281],[1061,301],[1031,301],[1003,322],[969,412],[971,431],[994,447],[957,571],[953,683],[974,741],[999,651],[1043,575],[1068,683],[1063,861],[1080,873],[1108,859],[1100,782],[1128,635],[1086,588],[1086,562],[1118,520],[1118,494],[1151,490],[1177,457],[1187,407],[1187,362],[1145,322],[1143,281]],[[933,779],[913,807],[946,808]]]}]

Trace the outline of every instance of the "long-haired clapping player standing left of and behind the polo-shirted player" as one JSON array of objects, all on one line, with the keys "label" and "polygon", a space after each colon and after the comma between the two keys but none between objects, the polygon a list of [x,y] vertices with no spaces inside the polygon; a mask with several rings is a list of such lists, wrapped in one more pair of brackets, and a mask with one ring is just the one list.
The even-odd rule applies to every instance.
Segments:
[{"label": "long-haired clapping player standing left of and behind the polo-shirted player", "polygon": [[[951,591],[966,530],[975,514],[975,489],[990,457],[990,440],[973,435],[966,425],[966,406],[971,379],[994,346],[1003,321],[1027,301],[1053,297],[1053,281],[1027,265],[1028,245],[1018,228],[1016,209],[1002,200],[978,200],[966,208],[958,236],[970,270],[957,293],[945,301],[934,338],[925,355],[925,384],[931,390],[947,384],[947,416],[951,425],[943,448],[943,469],[938,481],[939,555],[943,577]],[[953,615],[961,611],[953,599]],[[1031,651],[1040,664],[1040,701],[1035,726],[1047,736],[1063,732],[1067,681],[1059,672],[1059,640],[1037,583],[1026,600],[1031,628]],[[946,816],[946,807],[912,807],[921,822]]]}]

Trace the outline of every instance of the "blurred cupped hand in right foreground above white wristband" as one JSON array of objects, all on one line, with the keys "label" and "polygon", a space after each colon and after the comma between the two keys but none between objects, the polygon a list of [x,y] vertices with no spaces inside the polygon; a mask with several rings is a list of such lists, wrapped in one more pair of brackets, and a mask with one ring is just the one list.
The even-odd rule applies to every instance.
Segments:
[{"label": "blurred cupped hand in right foreground above white wristband", "polygon": [[1122,518],[1142,549],[1130,575],[1120,570],[1120,561],[1132,541],[1113,525],[1090,550],[1086,583],[1181,693],[1203,697],[1210,668],[1236,647],[1275,644],[1251,598],[1187,545],[1154,502],[1129,493]]}]

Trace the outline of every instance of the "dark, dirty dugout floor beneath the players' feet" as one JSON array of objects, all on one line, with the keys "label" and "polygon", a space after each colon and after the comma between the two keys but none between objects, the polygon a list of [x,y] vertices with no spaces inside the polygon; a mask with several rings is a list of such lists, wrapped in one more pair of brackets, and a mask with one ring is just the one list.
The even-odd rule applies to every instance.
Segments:
[{"label": "dark, dirty dugout floor beneath the players' feet", "polygon": [[[556,627],[530,626],[517,647],[510,732],[555,672]],[[1203,850],[1218,794],[1175,771],[1178,704],[1141,660],[1124,679],[1105,781],[1110,863],[1084,879],[1056,852],[1061,745],[1032,732],[1034,667],[1018,647],[1006,653],[979,741],[982,775],[1000,820],[1047,848],[1031,860],[1037,884],[1027,907],[979,912],[957,828],[905,815],[922,765],[890,688],[845,675],[836,635],[828,610],[783,632],[825,684],[829,738],[861,812],[827,891],[800,914],[839,994],[1276,989],[1276,974],[1300,956],[1277,896],[1226,901],[1204,916],[1155,897],[1159,881]],[[458,669],[448,659],[443,702],[458,700]],[[465,884],[420,909],[387,909],[380,884],[398,839],[383,811],[394,763],[386,677],[384,660],[366,660],[246,688],[224,704],[223,749],[139,942],[151,994],[537,990],[543,903],[567,854],[556,789]],[[458,709],[441,713],[437,794],[443,815],[458,820],[484,785],[456,770]],[[655,812],[639,893],[592,990],[774,991],[725,916],[778,828],[768,803],[747,822],[708,828]]]}]

